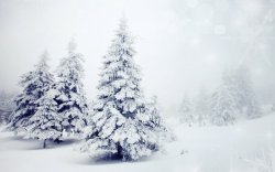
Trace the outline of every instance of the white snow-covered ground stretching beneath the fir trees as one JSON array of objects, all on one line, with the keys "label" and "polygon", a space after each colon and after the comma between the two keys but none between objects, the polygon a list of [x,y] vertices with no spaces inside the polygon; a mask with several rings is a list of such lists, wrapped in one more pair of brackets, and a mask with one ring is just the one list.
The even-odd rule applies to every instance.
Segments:
[{"label": "white snow-covered ground stretching beneath the fir trees", "polygon": [[173,126],[177,141],[139,162],[96,162],[74,150],[77,141],[72,139],[41,149],[42,143],[36,140],[0,132],[0,169],[3,172],[251,172],[248,160],[275,148],[275,114],[231,127]]}]

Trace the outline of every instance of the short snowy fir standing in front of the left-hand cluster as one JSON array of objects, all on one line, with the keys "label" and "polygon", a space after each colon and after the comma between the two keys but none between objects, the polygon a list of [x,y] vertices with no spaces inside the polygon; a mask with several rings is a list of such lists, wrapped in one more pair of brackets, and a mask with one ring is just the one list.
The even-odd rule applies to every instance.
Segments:
[{"label": "short snowy fir standing in front of the left-hand cluster", "polygon": [[26,127],[28,137],[43,140],[43,148],[46,148],[47,140],[56,141],[62,137],[63,118],[57,112],[55,92],[50,89],[37,100],[37,111],[29,119]]}]

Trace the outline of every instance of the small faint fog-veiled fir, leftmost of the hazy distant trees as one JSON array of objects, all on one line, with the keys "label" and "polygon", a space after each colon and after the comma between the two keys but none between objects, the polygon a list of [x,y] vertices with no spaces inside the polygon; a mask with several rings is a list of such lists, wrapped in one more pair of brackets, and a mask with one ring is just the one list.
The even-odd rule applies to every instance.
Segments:
[{"label": "small faint fog-veiled fir, leftmost of the hazy distant trees", "polygon": [[187,95],[184,96],[180,107],[179,107],[180,122],[191,127],[195,122],[194,107]]}]

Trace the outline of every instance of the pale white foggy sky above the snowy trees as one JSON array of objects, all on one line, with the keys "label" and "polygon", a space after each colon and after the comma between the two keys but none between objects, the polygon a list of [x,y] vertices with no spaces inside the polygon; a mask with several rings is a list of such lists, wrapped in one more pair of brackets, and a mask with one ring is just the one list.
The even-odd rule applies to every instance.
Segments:
[{"label": "pale white foggy sky above the snowy trees", "polygon": [[75,37],[85,55],[85,88],[97,95],[98,74],[119,19],[135,36],[142,87],[169,109],[185,93],[213,90],[224,67],[245,65],[263,103],[275,89],[274,0],[0,0],[0,88],[47,50],[54,71]]}]

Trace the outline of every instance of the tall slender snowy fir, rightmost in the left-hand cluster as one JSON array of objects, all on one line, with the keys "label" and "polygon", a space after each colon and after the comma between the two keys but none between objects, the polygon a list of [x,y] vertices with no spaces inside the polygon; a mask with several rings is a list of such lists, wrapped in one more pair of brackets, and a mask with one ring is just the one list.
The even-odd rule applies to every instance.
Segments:
[{"label": "tall slender snowy fir, rightmost in the left-hand cluster", "polygon": [[82,55],[75,53],[74,40],[68,45],[68,56],[62,58],[57,68],[57,111],[63,117],[63,128],[69,133],[80,135],[87,125],[88,105],[84,92]]}]

